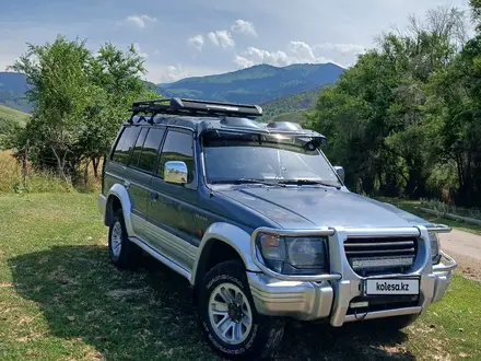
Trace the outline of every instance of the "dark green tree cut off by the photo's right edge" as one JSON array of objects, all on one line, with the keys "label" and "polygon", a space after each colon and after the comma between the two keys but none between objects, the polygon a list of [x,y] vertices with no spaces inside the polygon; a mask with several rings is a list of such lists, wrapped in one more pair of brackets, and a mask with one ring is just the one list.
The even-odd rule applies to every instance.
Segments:
[{"label": "dark green tree cut off by the photo's right edge", "polygon": [[477,206],[481,201],[481,36],[469,40],[431,85],[437,161],[456,164],[458,203]]}]

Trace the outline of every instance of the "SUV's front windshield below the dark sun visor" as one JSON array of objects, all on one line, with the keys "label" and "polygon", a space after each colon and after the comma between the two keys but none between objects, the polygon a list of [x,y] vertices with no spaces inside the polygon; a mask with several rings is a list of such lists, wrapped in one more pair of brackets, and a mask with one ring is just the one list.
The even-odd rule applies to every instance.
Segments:
[{"label": "SUV's front windshield below the dark sun visor", "polygon": [[203,156],[208,183],[270,180],[313,182],[341,186],[312,138],[294,136],[220,135],[206,137]]}]

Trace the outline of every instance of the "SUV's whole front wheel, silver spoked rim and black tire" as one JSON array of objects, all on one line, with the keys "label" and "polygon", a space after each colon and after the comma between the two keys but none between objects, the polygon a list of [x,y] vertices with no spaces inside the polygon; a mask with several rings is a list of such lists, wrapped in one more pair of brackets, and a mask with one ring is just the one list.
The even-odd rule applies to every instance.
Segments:
[{"label": "SUV's whole front wheel, silver spoked rim and black tire", "polygon": [[257,313],[241,261],[213,267],[199,289],[199,321],[210,346],[235,360],[269,357],[282,339],[284,321]]}]

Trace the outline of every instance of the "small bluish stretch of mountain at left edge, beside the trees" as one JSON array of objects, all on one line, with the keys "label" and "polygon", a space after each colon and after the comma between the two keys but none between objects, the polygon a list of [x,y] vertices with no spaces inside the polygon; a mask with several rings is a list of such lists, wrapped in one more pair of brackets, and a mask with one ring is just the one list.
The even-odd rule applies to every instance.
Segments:
[{"label": "small bluish stretch of mountain at left edge, beside the trees", "polygon": [[0,71],[0,105],[30,113],[32,105],[24,98],[27,86],[25,74]]}]

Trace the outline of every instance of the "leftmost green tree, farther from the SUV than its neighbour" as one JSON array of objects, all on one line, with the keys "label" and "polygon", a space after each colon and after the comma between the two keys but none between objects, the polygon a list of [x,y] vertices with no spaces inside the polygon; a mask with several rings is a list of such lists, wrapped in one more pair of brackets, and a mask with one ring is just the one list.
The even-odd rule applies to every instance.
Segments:
[{"label": "leftmost green tree, farther from the SUV than its neighbour", "polygon": [[84,42],[59,36],[52,44],[28,45],[13,69],[27,75],[26,96],[35,103],[31,124],[25,128],[31,144],[45,160],[51,153],[60,177],[68,178],[68,165],[77,160],[77,121],[84,106],[87,63],[91,53]]}]

